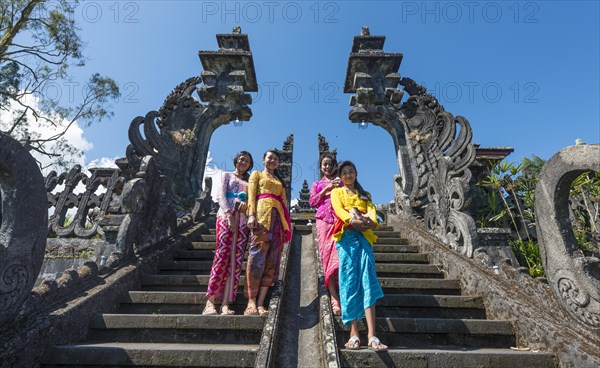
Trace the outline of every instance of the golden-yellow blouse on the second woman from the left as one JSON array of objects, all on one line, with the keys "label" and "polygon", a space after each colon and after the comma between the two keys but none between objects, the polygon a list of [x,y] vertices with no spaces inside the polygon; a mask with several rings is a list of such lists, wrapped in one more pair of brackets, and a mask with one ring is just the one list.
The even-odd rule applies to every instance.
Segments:
[{"label": "golden-yellow blouse on the second woman from the left", "polygon": [[262,171],[255,171],[250,175],[248,180],[248,208],[249,214],[253,213],[256,216],[256,221],[263,225],[266,229],[271,228],[271,209],[276,208],[281,220],[281,226],[284,231],[290,231],[288,223],[285,219],[284,209],[275,198],[262,198],[257,200],[259,194],[271,193],[276,196],[281,196],[283,203],[287,203],[285,189],[281,182],[277,179],[268,177]]}]

